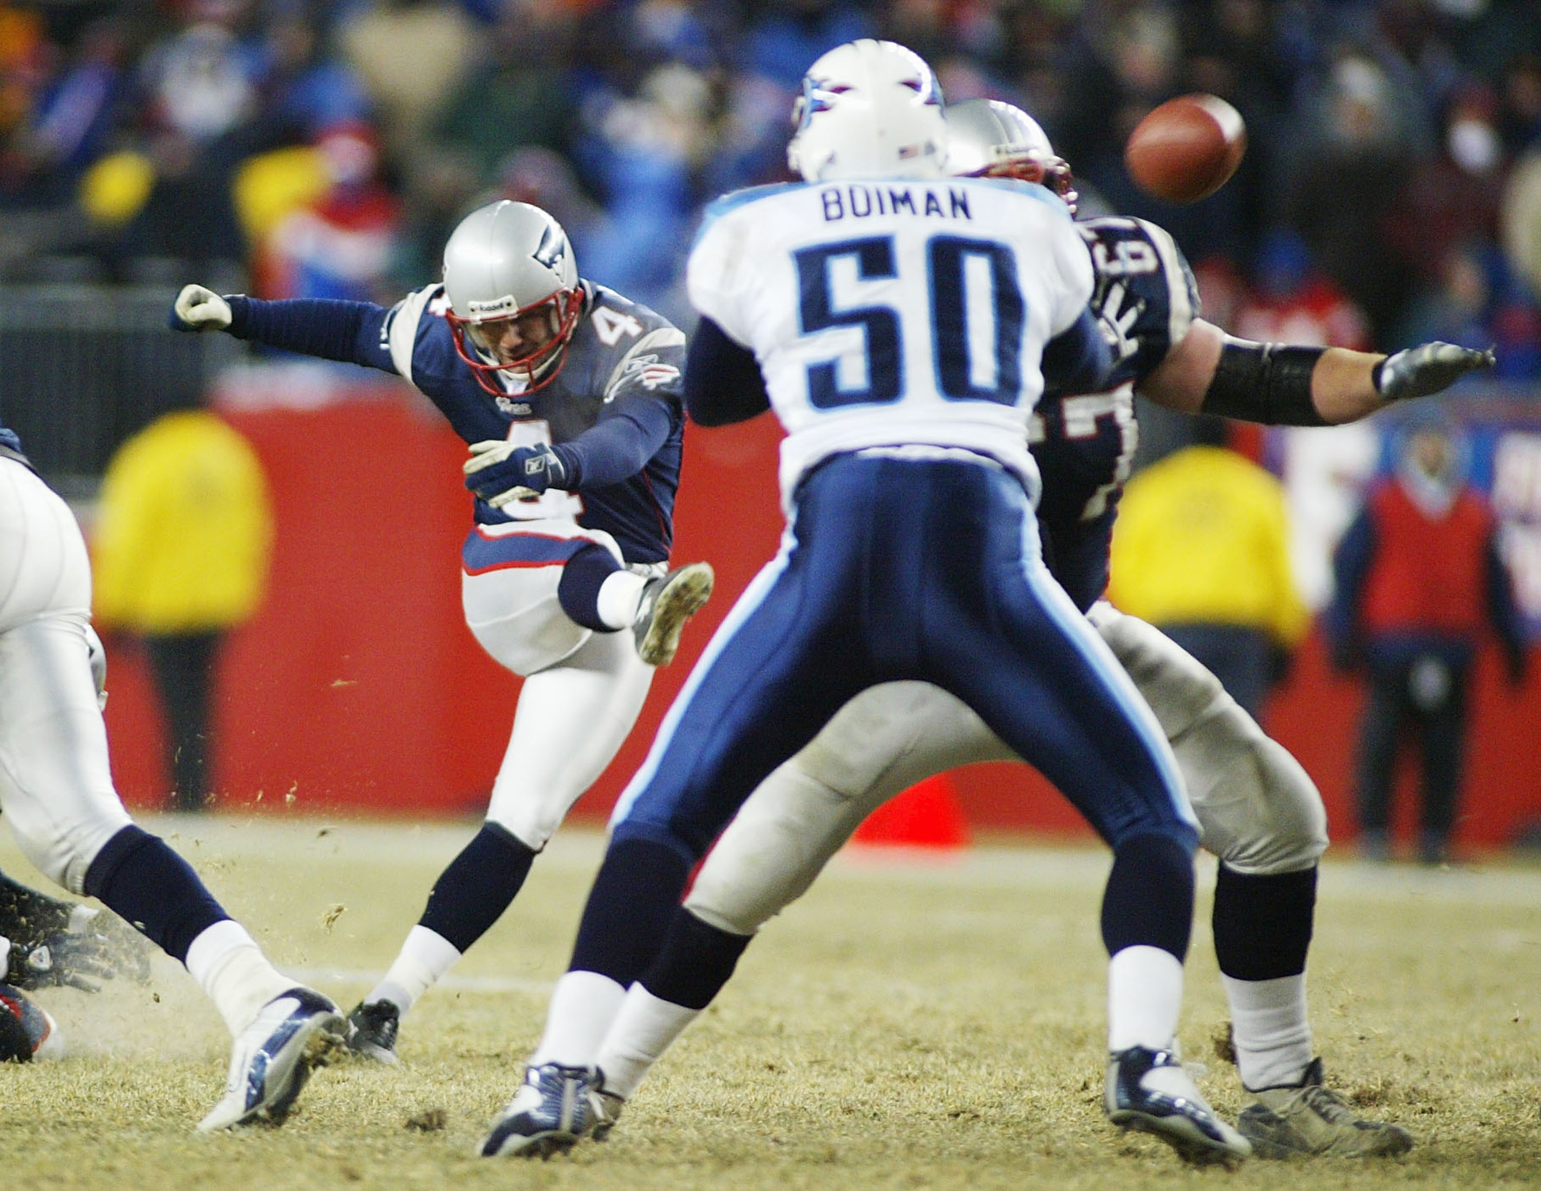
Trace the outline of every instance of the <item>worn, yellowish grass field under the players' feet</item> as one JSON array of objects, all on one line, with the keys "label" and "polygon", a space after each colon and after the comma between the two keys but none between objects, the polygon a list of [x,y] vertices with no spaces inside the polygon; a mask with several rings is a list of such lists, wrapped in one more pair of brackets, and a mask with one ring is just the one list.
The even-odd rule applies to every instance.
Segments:
[{"label": "worn, yellowish grass field under the players' feet", "polygon": [[[351,1005],[462,826],[149,820],[285,971]],[[1168,1188],[1541,1185],[1541,869],[1328,861],[1311,1006],[1331,1082],[1418,1136],[1371,1165],[1183,1168],[1099,1108],[1102,852],[841,857],[752,946],[606,1145],[472,1156],[539,1032],[601,840],[562,837],[524,895],[407,1018],[402,1065],[321,1071],[277,1131],[202,1137],[228,1038],[176,965],[149,986],[39,994],[71,1055],[0,1068],[0,1183],[23,1188]],[[0,844],[0,864],[29,869]],[[1200,921],[1183,1046],[1214,1103],[1225,1012]],[[410,1122],[438,1109],[442,1128]]]}]

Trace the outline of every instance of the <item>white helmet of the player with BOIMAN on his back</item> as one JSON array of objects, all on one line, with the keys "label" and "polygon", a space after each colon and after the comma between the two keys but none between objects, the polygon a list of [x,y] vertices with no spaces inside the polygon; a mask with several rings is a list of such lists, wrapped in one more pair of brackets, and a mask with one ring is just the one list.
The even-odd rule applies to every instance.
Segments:
[{"label": "white helmet of the player with BOIMAN on his back", "polygon": [[894,42],[846,42],[803,75],[786,163],[804,182],[940,177],[948,125],[925,59]]}]

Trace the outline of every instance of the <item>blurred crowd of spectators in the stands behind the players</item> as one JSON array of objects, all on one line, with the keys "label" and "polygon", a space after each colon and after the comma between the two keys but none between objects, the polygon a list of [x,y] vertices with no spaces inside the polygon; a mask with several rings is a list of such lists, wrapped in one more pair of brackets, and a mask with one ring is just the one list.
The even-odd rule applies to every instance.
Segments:
[{"label": "blurred crowd of spectators in the stands behind the players", "polygon": [[[0,280],[393,300],[507,196],[687,319],[700,206],[787,177],[804,68],[881,35],[1034,112],[1083,208],[1167,225],[1216,322],[1541,376],[1541,0],[129,0],[0,5]],[[1231,100],[1250,151],[1142,196],[1133,125]]]}]

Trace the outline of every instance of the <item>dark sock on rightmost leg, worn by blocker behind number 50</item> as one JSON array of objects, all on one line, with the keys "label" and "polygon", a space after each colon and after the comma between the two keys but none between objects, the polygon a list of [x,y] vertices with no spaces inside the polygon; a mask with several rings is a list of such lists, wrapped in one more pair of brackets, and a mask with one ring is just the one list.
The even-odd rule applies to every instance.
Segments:
[{"label": "dark sock on rightmost leg, worn by blocker behind number 50", "polygon": [[1233,980],[1305,971],[1316,917],[1316,866],[1247,877],[1220,864],[1214,883],[1214,958]]}]

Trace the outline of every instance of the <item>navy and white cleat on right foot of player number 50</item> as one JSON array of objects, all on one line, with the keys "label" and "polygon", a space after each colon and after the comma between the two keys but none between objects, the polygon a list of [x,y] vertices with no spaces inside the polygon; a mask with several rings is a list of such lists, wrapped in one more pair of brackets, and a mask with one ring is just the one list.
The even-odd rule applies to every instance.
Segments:
[{"label": "navy and white cleat on right foot of player number 50", "polygon": [[1108,1057],[1108,1120],[1148,1132],[1188,1162],[1241,1162],[1251,1145],[1205,1102],[1173,1051],[1131,1046]]}]

